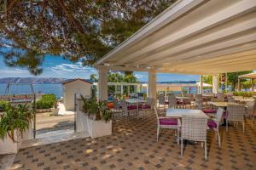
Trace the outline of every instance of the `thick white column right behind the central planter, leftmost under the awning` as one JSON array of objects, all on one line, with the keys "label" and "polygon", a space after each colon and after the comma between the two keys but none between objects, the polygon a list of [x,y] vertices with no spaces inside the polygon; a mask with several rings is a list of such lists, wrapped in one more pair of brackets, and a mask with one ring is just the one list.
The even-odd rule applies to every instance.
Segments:
[{"label": "thick white column right behind the central planter, leftmost under the awning", "polygon": [[108,69],[99,68],[99,100],[108,99]]}]

